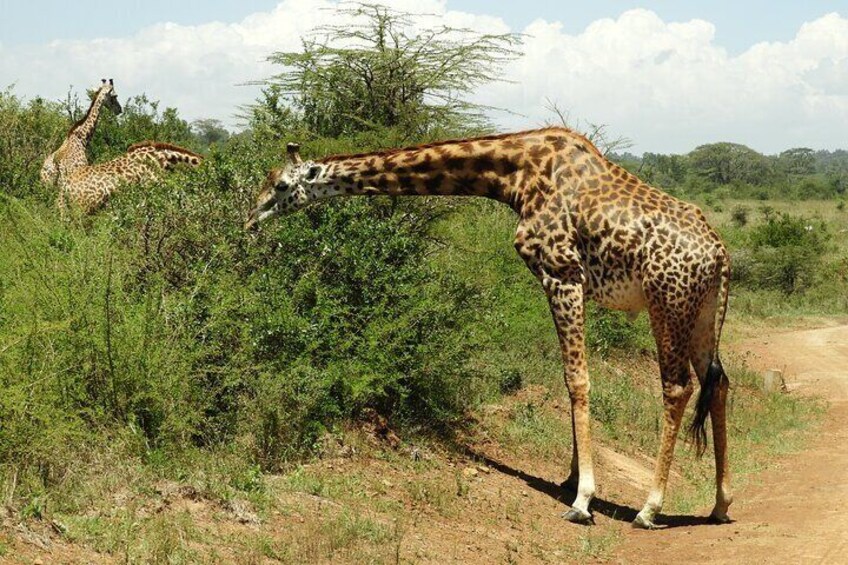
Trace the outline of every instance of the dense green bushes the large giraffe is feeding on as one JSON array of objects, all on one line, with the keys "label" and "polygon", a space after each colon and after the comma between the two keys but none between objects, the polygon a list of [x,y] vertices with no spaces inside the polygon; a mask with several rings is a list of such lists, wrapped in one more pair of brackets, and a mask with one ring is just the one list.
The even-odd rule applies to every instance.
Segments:
[{"label": "dense green bushes the large giraffe is feeding on", "polygon": [[248,234],[279,158],[237,137],[71,224],[4,197],[0,460],[59,477],[135,434],[139,455],[236,442],[276,468],[366,409],[438,431],[498,386],[469,364],[479,291],[426,260],[439,208],[334,201]]}]

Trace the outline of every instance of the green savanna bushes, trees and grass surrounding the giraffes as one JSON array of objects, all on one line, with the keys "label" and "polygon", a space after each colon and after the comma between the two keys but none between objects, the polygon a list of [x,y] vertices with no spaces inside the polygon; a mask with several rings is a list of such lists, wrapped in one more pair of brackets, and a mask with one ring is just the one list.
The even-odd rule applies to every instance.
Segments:
[{"label": "green savanna bushes, trees and grass surrounding the giraffes", "polygon": [[[461,454],[482,433],[507,453],[566,465],[567,404],[552,408],[565,394],[559,350],[538,283],[512,250],[511,211],[358,198],[258,234],[242,229],[287,141],[322,156],[492,128],[469,93],[495,79],[520,38],[413,33],[410,16],[351,9],[361,27],[321,30],[300,52],[271,55],[280,74],[243,109],[243,131],[188,123],[154,93],[131,94],[120,116],[104,113],[91,161],[144,139],[207,159],[126,187],[93,217],[60,221],[38,181],[87,104],[0,93],[0,484],[16,523],[53,524],[128,562],[388,561],[410,508],[449,518],[471,504],[465,478],[407,461],[406,447]],[[118,92],[127,94],[120,83]],[[704,205],[733,252],[731,317],[848,312],[848,153],[714,144],[611,157]],[[592,306],[587,331],[597,435],[652,456],[661,407],[646,317]],[[734,457],[744,470],[784,447],[816,407],[760,392],[735,365]],[[507,408],[492,416],[493,405]],[[363,426],[406,447],[359,445],[351,430]],[[367,473],[330,478],[306,465],[350,442],[413,482],[393,495]],[[679,459],[692,486],[672,504],[692,511],[709,498],[711,464]],[[448,486],[433,478],[439,469]],[[364,483],[381,506],[357,494]],[[150,510],[173,489],[248,523],[300,512],[281,492],[340,510],[307,520],[306,536],[251,531],[245,542]],[[0,538],[0,556],[8,543]],[[597,538],[587,543],[597,548]],[[222,544],[232,547],[216,553]]]}]

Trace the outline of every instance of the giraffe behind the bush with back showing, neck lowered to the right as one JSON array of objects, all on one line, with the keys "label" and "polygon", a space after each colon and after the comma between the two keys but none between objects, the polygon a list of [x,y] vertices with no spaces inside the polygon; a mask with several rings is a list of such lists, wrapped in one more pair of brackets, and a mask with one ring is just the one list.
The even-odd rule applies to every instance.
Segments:
[{"label": "giraffe behind the bush with back showing, neck lowered to the right", "polygon": [[96,165],[71,171],[60,180],[60,212],[65,200],[90,214],[100,208],[121,185],[156,179],[182,163],[196,167],[203,157],[176,145],[144,141],[131,145],[126,153]]}]

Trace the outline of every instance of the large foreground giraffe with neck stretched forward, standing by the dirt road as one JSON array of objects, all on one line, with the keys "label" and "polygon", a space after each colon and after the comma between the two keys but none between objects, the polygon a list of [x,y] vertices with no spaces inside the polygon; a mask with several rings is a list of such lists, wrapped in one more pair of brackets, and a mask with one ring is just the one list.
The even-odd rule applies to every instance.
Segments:
[{"label": "large foreground giraffe with neck stretched forward, standing by the dirt road", "polygon": [[716,498],[710,520],[728,522],[732,501],[725,407],[729,380],[718,355],[727,310],[729,255],[694,205],[653,188],[608,161],[566,128],[444,141],[406,149],[288,163],[271,171],[245,227],[346,195],[465,195],[503,202],[517,213],[515,249],[541,282],[562,350],[571,401],[573,450],[564,486],[576,491],[563,517],[593,523],[595,493],[589,422],[584,304],[636,313],[647,308],[657,342],[663,431],[647,501],[633,521],[655,528],[674,446],[700,381],[689,427],[698,455],[713,426]]}]

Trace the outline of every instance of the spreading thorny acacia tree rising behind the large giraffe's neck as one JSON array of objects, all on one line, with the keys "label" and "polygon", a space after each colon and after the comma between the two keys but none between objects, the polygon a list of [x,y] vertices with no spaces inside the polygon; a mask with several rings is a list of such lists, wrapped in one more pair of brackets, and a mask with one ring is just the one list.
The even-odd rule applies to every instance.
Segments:
[{"label": "spreading thorny acacia tree rising behind the large giraffe's neck", "polygon": [[379,128],[409,139],[488,125],[485,107],[469,101],[518,56],[520,36],[427,26],[426,16],[354,3],[352,24],[328,25],[300,52],[277,52],[284,67],[263,81],[266,98],[282,98],[303,126],[324,137]]}]

